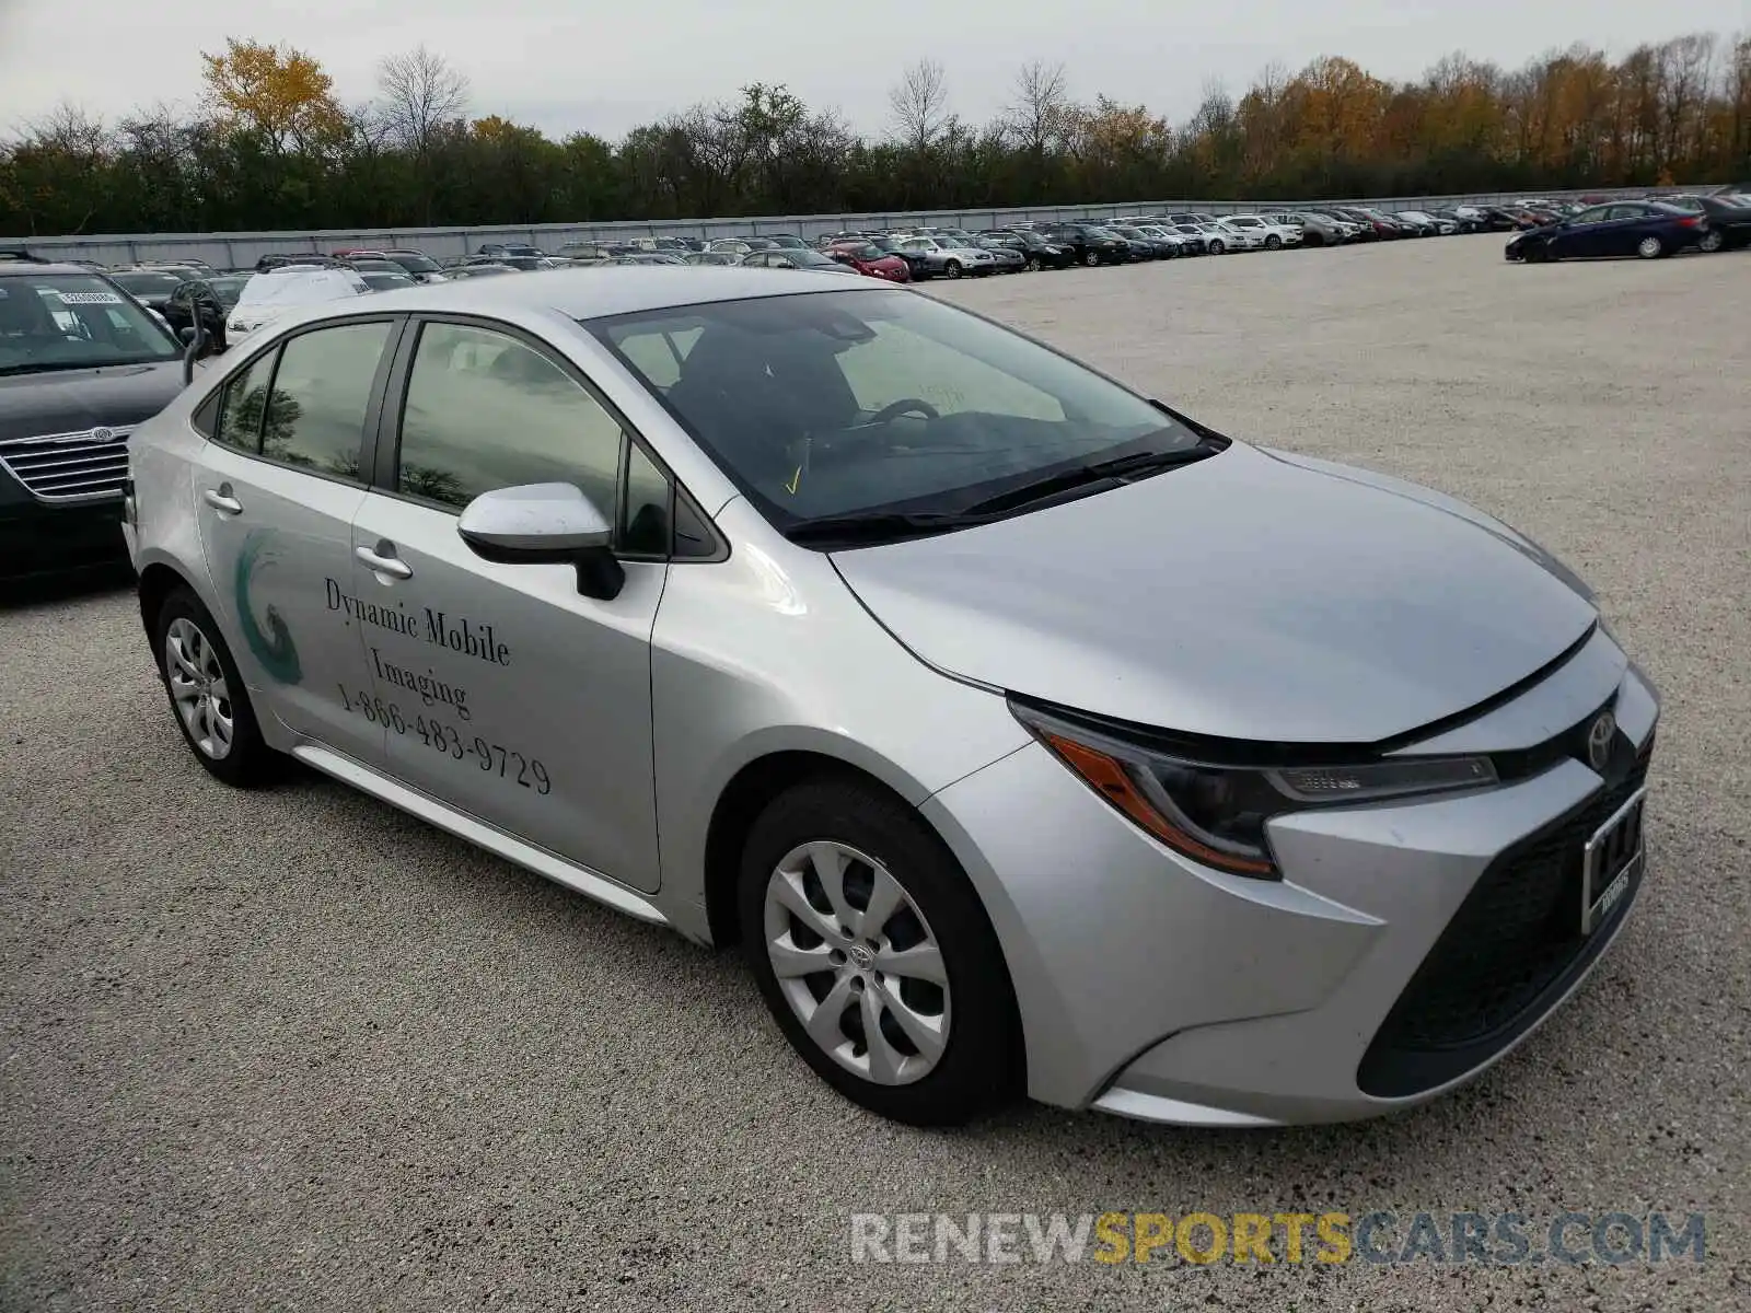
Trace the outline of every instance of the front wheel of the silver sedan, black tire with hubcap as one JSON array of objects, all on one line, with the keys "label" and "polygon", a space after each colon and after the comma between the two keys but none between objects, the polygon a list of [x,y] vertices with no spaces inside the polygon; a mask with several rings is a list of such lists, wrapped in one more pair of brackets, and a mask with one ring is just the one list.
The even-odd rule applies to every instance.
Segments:
[{"label": "front wheel of the silver sedan, black tire with hubcap", "polygon": [[[823,868],[839,872],[837,900]],[[846,926],[861,919],[877,889],[895,910],[881,926]],[[847,1099],[911,1126],[958,1126],[1014,1096],[1021,1028],[996,933],[953,854],[911,807],[853,779],[779,795],[748,835],[739,912],[744,956],[779,1029]],[[846,928],[858,933],[840,937]],[[942,986],[879,970],[890,954],[930,945]],[[786,951],[821,968],[781,979],[774,952]],[[879,1047],[861,1038],[870,1015],[879,1017]],[[907,1029],[900,1015],[911,1017]],[[932,1031],[946,1031],[935,1054],[909,1038]]]}]

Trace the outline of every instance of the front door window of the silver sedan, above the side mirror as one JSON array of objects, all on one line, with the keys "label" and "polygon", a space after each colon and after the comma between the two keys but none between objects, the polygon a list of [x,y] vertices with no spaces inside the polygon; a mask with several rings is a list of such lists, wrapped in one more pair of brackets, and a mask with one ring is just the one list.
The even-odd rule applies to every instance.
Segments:
[{"label": "front door window of the silver sedan, above the side mirror", "polygon": [[520,340],[425,324],[401,413],[396,490],[450,509],[482,492],[571,483],[613,513],[620,422]]}]

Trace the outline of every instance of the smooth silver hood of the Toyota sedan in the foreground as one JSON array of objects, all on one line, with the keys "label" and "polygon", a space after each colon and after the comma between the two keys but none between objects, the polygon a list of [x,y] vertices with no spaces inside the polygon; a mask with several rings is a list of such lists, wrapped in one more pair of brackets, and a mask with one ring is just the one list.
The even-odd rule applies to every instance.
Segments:
[{"label": "smooth silver hood of the Toyota sedan in the foreground", "polygon": [[1483,513],[1243,443],[833,564],[942,671],[1268,742],[1410,734],[1536,674],[1597,620],[1579,581]]}]

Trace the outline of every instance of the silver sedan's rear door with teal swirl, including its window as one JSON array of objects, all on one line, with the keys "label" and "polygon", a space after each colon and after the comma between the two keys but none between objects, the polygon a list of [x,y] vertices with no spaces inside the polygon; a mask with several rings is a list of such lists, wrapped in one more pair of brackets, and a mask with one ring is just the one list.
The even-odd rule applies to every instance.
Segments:
[{"label": "silver sedan's rear door with teal swirl, including its window", "polygon": [[[348,690],[371,688],[354,595],[362,441],[392,320],[287,338],[224,389],[191,494],[233,656],[256,706],[369,765],[383,732]],[[371,417],[375,418],[375,417]]]}]

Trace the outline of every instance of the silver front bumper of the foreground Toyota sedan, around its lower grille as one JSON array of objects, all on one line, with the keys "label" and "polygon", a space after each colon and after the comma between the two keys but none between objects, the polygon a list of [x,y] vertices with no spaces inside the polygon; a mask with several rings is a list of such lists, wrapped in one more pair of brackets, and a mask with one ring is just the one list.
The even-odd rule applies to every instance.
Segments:
[{"label": "silver front bumper of the foreground Toyota sedan, around its lower grille", "polygon": [[[1422,1103],[1499,1061],[1579,986],[1642,882],[1579,937],[1571,868],[1646,772],[1658,714],[1607,637],[1441,751],[1529,748],[1502,735],[1553,702],[1576,720],[1614,704],[1621,777],[1562,756],[1487,791],[1278,818],[1282,882],[1178,858],[1038,746],[939,793],[925,812],[1003,942],[1030,1094],[1180,1124],[1331,1122]],[[1492,945],[1534,921],[1551,945],[1523,954],[1522,979]]]}]

